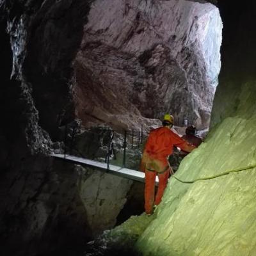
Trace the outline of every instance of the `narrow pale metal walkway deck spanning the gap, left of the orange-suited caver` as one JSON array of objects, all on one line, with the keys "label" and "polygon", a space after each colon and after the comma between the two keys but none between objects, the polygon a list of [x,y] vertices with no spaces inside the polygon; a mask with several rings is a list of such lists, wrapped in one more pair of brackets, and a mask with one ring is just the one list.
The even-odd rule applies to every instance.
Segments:
[{"label": "narrow pale metal walkway deck spanning the gap, left of the orange-suited caver", "polygon": [[[68,154],[51,154],[52,157],[56,157],[58,159],[63,159],[64,161],[70,161],[76,164],[84,164],[86,166],[89,166],[90,168],[100,170],[105,173],[110,173],[113,175],[117,175],[120,177],[124,177],[126,179],[132,179],[137,180],[140,182],[145,182],[145,173],[138,172],[136,170],[131,170],[128,168],[122,168],[120,166],[116,166],[113,164],[107,163],[100,163],[98,161],[93,161],[90,159],[77,157],[77,156],[70,156]],[[156,185],[158,185],[158,177],[156,177]]]}]

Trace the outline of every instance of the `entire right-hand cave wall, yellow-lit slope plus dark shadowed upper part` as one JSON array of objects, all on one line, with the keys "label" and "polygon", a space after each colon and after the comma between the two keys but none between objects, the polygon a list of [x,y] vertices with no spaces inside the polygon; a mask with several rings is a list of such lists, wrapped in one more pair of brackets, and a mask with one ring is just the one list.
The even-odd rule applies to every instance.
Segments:
[{"label": "entire right-hand cave wall, yellow-lit slope plus dark shadowed upper part", "polygon": [[138,241],[143,255],[255,255],[255,1],[220,1],[223,47],[212,129],[170,179],[164,200]]}]

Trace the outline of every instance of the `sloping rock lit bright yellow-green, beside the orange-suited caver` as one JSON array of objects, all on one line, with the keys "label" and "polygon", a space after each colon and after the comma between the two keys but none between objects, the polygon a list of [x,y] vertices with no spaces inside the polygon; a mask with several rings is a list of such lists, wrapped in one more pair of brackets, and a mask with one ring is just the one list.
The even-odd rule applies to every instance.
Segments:
[{"label": "sloping rock lit bright yellow-green, beside the orange-suited caver", "polygon": [[[169,180],[157,217],[137,248],[154,256],[256,255],[255,83],[239,92],[236,111],[215,125],[207,140],[182,161],[181,180]],[[240,172],[221,175],[228,170]]]}]

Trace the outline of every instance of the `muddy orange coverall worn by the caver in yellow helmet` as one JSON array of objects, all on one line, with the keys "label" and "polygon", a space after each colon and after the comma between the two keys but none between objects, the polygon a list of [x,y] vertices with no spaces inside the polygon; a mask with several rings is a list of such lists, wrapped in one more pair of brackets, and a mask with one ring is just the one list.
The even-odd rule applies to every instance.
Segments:
[{"label": "muddy orange coverall worn by the caver in yellow helmet", "polygon": [[[180,138],[168,127],[159,127],[150,132],[141,159],[141,171],[145,172],[145,212],[152,213],[153,205],[160,204],[164,189],[172,168],[168,157],[173,152],[173,146],[191,152],[195,146]],[[158,175],[159,184],[155,199],[155,180]]]}]

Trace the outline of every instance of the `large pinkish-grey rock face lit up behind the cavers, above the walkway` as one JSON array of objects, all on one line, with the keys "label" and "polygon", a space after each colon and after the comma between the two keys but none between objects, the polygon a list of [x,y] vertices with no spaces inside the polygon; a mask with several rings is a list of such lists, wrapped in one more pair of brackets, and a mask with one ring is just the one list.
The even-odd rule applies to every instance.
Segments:
[{"label": "large pinkish-grey rock face lit up behind the cavers, above the walkway", "polygon": [[177,124],[207,125],[221,27],[212,4],[95,1],[74,61],[77,116],[138,127],[170,111]]}]

